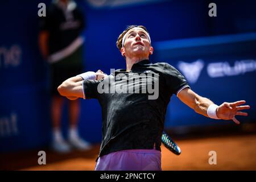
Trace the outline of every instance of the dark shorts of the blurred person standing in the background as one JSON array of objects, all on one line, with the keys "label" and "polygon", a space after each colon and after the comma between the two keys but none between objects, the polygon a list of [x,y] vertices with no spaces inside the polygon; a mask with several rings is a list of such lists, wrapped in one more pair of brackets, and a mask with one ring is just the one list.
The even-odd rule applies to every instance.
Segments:
[{"label": "dark shorts of the blurred person standing in the background", "polygon": [[70,77],[79,75],[84,70],[82,65],[82,48],[71,55],[50,65],[50,89],[53,96],[60,96],[57,88]]}]

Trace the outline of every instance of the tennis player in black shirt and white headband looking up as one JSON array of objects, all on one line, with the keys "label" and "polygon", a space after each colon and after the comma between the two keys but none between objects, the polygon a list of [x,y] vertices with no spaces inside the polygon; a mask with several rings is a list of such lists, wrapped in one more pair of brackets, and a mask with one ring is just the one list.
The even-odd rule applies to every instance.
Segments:
[{"label": "tennis player in black shirt and white headband looking up", "polygon": [[[102,142],[95,170],[161,170],[161,136],[167,105],[173,94],[196,113],[213,119],[246,116],[245,101],[215,105],[191,90],[177,69],[167,63],[151,64],[150,35],[144,26],[129,26],[117,47],[126,69],[86,72],[59,87],[61,96],[96,98],[102,107]],[[96,80],[97,78],[97,80]],[[241,106],[243,105],[243,106]]]}]

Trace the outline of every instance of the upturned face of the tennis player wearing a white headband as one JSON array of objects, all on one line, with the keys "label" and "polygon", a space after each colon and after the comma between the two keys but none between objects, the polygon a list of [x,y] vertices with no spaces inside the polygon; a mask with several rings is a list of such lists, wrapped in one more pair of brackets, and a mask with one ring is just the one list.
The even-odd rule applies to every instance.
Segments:
[{"label": "upturned face of the tennis player wearing a white headband", "polygon": [[152,47],[146,31],[142,28],[132,28],[128,31],[124,43],[125,56],[148,57],[152,54]]}]

